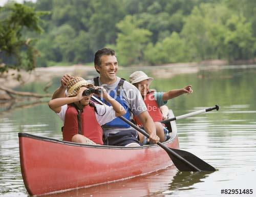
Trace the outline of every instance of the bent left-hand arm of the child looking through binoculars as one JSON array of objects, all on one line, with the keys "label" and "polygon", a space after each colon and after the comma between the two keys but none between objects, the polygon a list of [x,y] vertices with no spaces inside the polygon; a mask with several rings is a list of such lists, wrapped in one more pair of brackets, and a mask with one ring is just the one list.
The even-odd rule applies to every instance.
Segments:
[{"label": "bent left-hand arm of the child looking through binoculars", "polygon": [[82,93],[84,90],[86,90],[86,87],[81,87],[78,94],[75,97],[52,99],[50,100],[48,105],[52,111],[59,113],[61,111],[61,106],[81,100],[83,97]]}]

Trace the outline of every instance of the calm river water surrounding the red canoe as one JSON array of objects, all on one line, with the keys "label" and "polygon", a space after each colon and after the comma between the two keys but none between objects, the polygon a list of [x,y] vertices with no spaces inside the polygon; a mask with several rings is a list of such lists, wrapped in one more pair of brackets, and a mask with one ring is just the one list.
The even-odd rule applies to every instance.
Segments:
[{"label": "calm river water surrounding the red canoe", "polygon": [[[119,71],[119,76],[127,78],[131,72]],[[154,76],[159,69],[150,68],[146,72]],[[170,70],[161,72],[166,74]],[[202,68],[198,73],[172,78],[158,75],[152,83],[152,88],[162,91],[193,85],[192,95],[182,95],[168,102],[176,116],[220,105],[219,112],[177,121],[180,148],[192,152],[218,171],[185,173],[170,166],[147,176],[48,196],[234,196],[221,194],[221,189],[253,189],[253,194],[236,196],[256,196],[255,75],[256,66]],[[59,79],[54,81],[50,92],[59,85]],[[33,83],[17,90],[40,93],[44,85]],[[27,196],[19,166],[17,133],[61,139],[62,123],[49,110],[47,99],[0,104],[0,196]]]}]

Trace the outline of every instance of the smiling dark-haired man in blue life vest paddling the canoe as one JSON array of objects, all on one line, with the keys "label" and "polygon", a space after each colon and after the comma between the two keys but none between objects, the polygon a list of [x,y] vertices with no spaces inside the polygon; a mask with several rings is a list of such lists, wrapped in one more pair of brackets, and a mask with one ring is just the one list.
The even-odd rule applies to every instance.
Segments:
[{"label": "smiling dark-haired man in blue life vest paddling the canoe", "polygon": [[[131,83],[116,76],[118,62],[115,51],[106,48],[98,50],[94,56],[94,65],[100,77],[88,80],[88,82],[96,86],[103,86],[106,91],[110,92],[110,95],[127,110],[125,118],[131,120],[131,112],[139,117],[145,131],[150,135],[150,141],[157,143],[159,137],[156,135],[155,124],[146,110],[139,90]],[[66,84],[71,77],[70,75],[62,77],[61,86],[55,91],[53,98],[66,96]],[[103,132],[105,145],[139,146],[137,131],[119,118],[104,125]]]}]

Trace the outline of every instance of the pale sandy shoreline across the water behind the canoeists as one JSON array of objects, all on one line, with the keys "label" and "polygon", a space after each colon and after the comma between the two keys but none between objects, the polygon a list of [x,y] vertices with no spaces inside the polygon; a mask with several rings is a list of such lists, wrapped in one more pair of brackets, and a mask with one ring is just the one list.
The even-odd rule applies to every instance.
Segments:
[{"label": "pale sandy shoreline across the water behind the canoeists", "polygon": [[[236,65],[236,64],[234,64]],[[202,69],[219,70],[223,67],[230,67],[226,60],[208,60],[201,62],[187,62],[187,63],[168,63],[162,65],[131,65],[131,67],[119,67],[119,70],[136,69],[152,71],[153,77],[169,78],[178,74],[197,73]],[[238,65],[237,65],[238,66]],[[242,66],[242,65],[241,65]],[[0,74],[0,84],[13,89],[19,85],[31,83],[34,81],[50,82],[54,77],[62,77],[64,74],[71,75],[88,75],[89,72],[95,72],[92,65],[74,64],[69,66],[55,65],[53,67],[39,67],[31,72],[16,70],[9,70],[8,73]],[[22,76],[20,81],[16,80],[17,75]],[[0,92],[1,94],[1,92]]]}]

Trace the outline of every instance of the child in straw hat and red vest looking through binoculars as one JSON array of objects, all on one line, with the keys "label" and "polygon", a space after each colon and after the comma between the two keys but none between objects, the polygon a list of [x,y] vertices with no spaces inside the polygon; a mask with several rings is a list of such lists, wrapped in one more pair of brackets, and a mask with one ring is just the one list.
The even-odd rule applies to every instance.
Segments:
[{"label": "child in straw hat and red vest looking through binoculars", "polygon": [[[125,109],[102,87],[95,87],[81,77],[73,77],[67,82],[68,95],[52,99],[49,107],[64,122],[64,141],[103,145],[101,125],[124,115]],[[90,101],[92,94],[101,94],[112,106]]]}]

